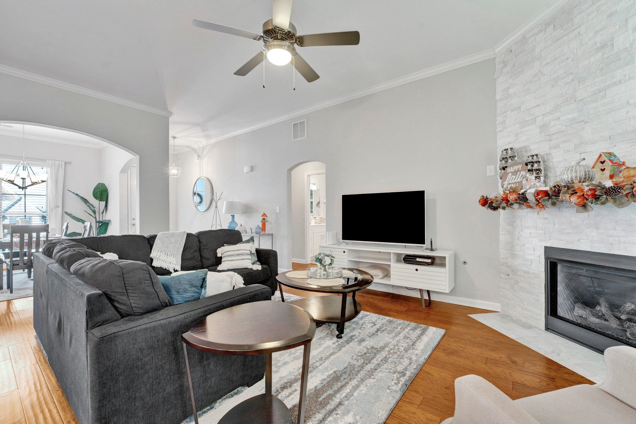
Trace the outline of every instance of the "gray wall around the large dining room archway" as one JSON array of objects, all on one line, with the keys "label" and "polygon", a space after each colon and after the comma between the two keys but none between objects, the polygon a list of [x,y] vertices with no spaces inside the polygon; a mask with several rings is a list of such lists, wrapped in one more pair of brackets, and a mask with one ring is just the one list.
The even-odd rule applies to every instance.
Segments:
[{"label": "gray wall around the large dining room archway", "polygon": [[0,121],[83,132],[139,155],[141,234],[169,228],[168,118],[0,74]]}]

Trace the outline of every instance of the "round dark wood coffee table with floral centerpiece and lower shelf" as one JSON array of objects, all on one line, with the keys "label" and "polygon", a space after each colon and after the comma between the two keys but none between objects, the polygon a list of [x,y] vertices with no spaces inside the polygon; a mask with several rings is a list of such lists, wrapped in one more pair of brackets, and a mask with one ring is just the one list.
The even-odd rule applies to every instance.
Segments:
[{"label": "round dark wood coffee table with floral centerpiece and lower shelf", "polygon": [[[345,284],[330,286],[309,284],[307,278],[291,278],[286,275],[289,271],[282,272],[276,276],[276,280],[279,283],[280,299],[283,302],[285,301],[282,286],[309,292],[341,294],[342,299],[338,296],[312,296],[302,297],[288,303],[300,306],[308,311],[316,322],[336,324],[336,329],[338,330],[336,338],[342,339],[342,334],[345,332],[345,322],[356,318],[362,311],[362,305],[356,300],[356,292],[366,289],[373,282],[373,276],[366,271],[357,270],[356,268],[343,268],[343,270],[352,271],[354,275],[352,277],[343,277]],[[351,293],[351,297],[348,296],[349,293]]]}]

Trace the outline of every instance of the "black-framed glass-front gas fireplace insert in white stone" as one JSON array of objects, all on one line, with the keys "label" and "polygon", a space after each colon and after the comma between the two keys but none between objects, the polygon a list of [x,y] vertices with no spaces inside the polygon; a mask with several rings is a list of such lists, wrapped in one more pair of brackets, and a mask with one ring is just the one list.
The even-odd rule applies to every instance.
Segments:
[{"label": "black-framed glass-front gas fireplace insert in white stone", "polygon": [[636,257],[545,248],[546,330],[603,352],[636,347]]}]

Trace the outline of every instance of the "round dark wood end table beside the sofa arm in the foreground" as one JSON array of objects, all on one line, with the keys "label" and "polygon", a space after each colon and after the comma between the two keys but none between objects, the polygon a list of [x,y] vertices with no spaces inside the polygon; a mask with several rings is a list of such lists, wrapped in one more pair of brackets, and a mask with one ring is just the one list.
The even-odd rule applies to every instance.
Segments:
[{"label": "round dark wood end table beside the sofa arm in the foreground", "polygon": [[195,423],[198,424],[197,406],[186,346],[221,355],[265,354],[265,393],[240,402],[221,418],[219,424],[293,423],[287,406],[272,394],[272,352],[305,346],[298,402],[298,423],[302,424],[305,422],[309,352],[315,331],[314,318],[306,310],[271,300],[230,306],[200,320],[181,336]]}]

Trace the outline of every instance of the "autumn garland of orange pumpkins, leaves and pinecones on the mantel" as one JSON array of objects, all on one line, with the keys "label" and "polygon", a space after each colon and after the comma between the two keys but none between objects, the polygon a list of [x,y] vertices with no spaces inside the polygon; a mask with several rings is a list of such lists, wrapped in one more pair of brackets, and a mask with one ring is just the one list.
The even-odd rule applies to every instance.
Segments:
[{"label": "autumn garland of orange pumpkins, leaves and pinecones on the mantel", "polygon": [[576,206],[576,212],[590,212],[591,205],[607,205],[617,208],[629,206],[636,202],[636,184],[633,178],[628,184],[611,186],[601,182],[586,181],[574,184],[562,184],[557,181],[550,188],[521,190],[512,187],[509,191],[496,195],[483,195],[479,204],[488,210],[536,209],[537,214],[549,207],[558,207],[564,202]]}]

